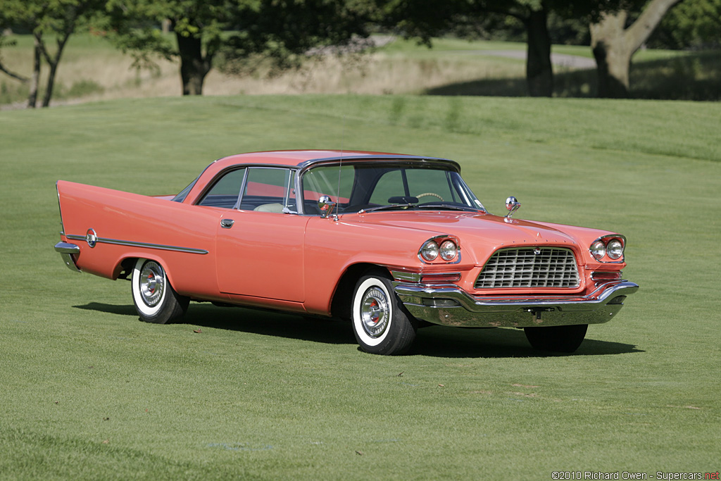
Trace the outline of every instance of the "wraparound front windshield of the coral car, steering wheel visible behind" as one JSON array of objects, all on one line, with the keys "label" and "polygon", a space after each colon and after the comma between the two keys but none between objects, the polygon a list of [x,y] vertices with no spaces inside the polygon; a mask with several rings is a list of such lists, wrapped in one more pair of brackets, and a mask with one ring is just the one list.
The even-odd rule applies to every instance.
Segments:
[{"label": "wraparound front windshield of the coral car, steering wheel visible behind", "polygon": [[302,179],[306,213],[319,214],[321,195],[338,213],[373,210],[485,211],[461,176],[438,164],[358,163],[309,169]]}]

